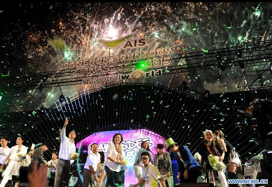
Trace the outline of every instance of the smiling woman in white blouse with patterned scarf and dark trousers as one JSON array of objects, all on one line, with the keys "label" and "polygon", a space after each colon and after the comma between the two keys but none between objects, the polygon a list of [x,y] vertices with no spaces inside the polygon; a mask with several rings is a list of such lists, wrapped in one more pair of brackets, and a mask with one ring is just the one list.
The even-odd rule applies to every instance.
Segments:
[{"label": "smiling woman in white blouse with patterned scarf and dark trousers", "polygon": [[121,159],[125,156],[122,148],[123,136],[122,134],[115,134],[112,138],[114,143],[110,144],[107,151],[107,160],[105,164],[105,171],[107,175],[106,187],[114,187],[115,183],[122,184],[121,166],[123,163]]}]

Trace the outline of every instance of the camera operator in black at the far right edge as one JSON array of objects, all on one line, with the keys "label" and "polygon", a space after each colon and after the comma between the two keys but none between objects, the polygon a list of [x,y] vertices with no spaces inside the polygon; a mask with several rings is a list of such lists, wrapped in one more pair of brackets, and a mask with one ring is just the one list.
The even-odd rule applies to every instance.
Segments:
[{"label": "camera operator in black at the far right edge", "polygon": [[272,150],[272,101],[254,99],[246,112],[257,119],[260,138],[267,150]]}]

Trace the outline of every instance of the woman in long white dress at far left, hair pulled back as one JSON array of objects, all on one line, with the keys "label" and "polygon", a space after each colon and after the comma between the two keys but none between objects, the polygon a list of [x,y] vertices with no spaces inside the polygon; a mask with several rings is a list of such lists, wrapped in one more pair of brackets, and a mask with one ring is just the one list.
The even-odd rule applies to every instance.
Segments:
[{"label": "woman in long white dress at far left, hair pulled back", "polygon": [[[12,175],[19,175],[19,169],[22,166],[22,160],[26,156],[27,147],[22,145],[24,142],[22,137],[18,137],[15,146],[10,149],[10,153],[7,159],[10,158],[11,161],[8,164],[7,169],[4,171],[4,178],[0,184],[0,187],[4,187],[8,180],[12,179]],[[3,169],[4,164],[1,165],[0,169]]]}]

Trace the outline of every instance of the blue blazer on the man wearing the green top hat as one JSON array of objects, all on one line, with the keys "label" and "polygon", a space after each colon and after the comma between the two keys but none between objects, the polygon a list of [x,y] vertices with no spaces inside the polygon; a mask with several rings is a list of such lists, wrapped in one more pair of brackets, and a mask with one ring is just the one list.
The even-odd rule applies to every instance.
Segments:
[{"label": "blue blazer on the man wearing the green top hat", "polygon": [[189,170],[190,168],[199,170],[201,169],[200,165],[198,164],[198,162],[195,160],[195,158],[193,157],[193,155],[191,154],[190,150],[188,149],[187,146],[179,146],[179,153],[183,159],[183,161],[186,164],[186,168],[184,168],[184,164],[183,162],[179,159],[179,155],[178,153],[174,152],[175,158],[177,160],[178,163],[178,170],[179,173],[183,173],[184,170]]}]

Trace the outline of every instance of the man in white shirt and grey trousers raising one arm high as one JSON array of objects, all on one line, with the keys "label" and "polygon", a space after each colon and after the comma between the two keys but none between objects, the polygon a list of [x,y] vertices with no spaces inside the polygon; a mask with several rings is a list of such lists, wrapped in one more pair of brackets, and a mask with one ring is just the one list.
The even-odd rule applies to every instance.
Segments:
[{"label": "man in white shirt and grey trousers raising one arm high", "polygon": [[[76,153],[76,146],[74,139],[76,138],[76,132],[71,131],[69,133],[69,138],[65,135],[65,128],[68,124],[68,119],[66,118],[64,126],[61,130],[61,147],[59,153],[59,159],[56,165],[56,175],[55,175],[55,187],[60,186],[60,182],[63,181],[63,186],[68,186],[70,178],[71,164],[77,159],[74,156],[70,159],[72,153]],[[63,176],[63,180],[62,180]],[[65,182],[65,183],[64,183]]]}]

